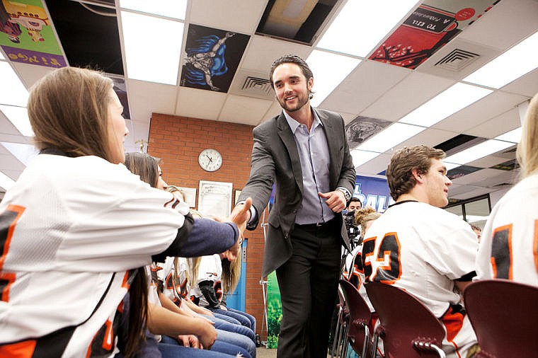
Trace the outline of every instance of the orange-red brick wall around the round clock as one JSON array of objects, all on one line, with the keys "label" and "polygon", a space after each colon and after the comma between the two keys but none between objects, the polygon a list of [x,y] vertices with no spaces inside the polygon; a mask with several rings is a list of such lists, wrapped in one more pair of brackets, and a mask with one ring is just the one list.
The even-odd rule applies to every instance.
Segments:
[{"label": "orange-red brick wall around the round clock", "polygon": [[[241,190],[250,173],[252,151],[250,125],[238,125],[213,120],[198,120],[154,113],[151,116],[147,153],[162,159],[161,168],[166,183],[195,187],[198,195],[200,180],[233,184]],[[222,154],[222,167],[209,173],[198,165],[198,154],[207,148]],[[198,197],[197,197],[198,205]],[[262,327],[263,295],[260,282],[263,260],[263,231],[247,231],[245,311],[256,317],[258,333]]]}]

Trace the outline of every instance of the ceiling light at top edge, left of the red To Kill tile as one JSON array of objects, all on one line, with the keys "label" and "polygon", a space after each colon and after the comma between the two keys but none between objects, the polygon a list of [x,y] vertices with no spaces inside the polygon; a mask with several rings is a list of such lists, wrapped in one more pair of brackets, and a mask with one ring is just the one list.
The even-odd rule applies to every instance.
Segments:
[{"label": "ceiling light at top edge, left of the red To Kill tile", "polygon": [[416,0],[348,0],[316,47],[367,57]]}]

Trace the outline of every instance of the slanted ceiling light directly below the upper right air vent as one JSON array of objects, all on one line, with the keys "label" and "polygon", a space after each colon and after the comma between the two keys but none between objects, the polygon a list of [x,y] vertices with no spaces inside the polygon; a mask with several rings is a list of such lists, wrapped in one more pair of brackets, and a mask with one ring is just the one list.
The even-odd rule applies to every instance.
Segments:
[{"label": "slanted ceiling light directly below the upper right air vent", "polygon": [[456,83],[401,118],[398,122],[430,127],[453,113],[466,108],[471,103],[475,103],[480,98],[488,96],[491,92],[493,91],[486,88]]}]

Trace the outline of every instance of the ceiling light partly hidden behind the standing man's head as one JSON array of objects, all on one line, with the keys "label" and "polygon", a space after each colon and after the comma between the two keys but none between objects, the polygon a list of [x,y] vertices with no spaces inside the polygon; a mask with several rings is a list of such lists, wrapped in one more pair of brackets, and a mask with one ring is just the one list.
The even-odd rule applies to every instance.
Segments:
[{"label": "ceiling light partly hidden behind the standing man's head", "polygon": [[360,64],[360,59],[314,50],[307,64],[314,74],[315,93],[310,103],[316,107]]}]

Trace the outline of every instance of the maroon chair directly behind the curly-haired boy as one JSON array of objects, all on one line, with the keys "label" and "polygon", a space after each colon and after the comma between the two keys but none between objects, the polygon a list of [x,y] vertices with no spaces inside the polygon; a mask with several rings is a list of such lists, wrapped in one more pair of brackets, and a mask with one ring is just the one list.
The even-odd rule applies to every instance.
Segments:
[{"label": "maroon chair directly behind the curly-haired boy", "polygon": [[422,302],[389,284],[368,282],[365,287],[380,323],[374,334],[372,357],[379,337],[385,357],[446,357],[440,348],[445,328]]}]

